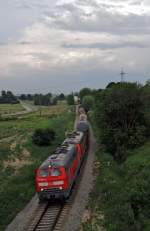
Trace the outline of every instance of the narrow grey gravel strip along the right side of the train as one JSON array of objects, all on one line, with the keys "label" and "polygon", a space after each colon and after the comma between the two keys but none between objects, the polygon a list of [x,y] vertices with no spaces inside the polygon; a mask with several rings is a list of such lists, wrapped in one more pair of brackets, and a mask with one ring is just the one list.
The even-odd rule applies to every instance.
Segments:
[{"label": "narrow grey gravel strip along the right side of the train", "polygon": [[79,231],[81,228],[82,218],[86,209],[86,205],[89,199],[89,193],[93,188],[94,176],[93,176],[93,165],[95,160],[95,149],[96,142],[93,135],[93,131],[90,128],[90,147],[86,165],[80,182],[80,187],[75,197],[74,204],[68,215],[68,219],[65,222],[63,231]]}]

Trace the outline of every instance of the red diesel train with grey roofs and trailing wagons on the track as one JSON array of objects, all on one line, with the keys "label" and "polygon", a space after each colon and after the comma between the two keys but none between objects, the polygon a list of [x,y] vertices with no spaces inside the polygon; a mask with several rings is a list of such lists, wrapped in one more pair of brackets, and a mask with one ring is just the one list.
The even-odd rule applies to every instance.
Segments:
[{"label": "red diesel train with grey roofs and trailing wagons on the track", "polygon": [[85,118],[86,115],[84,120],[79,117],[76,131],[68,134],[60,147],[36,170],[36,192],[40,201],[70,196],[88,149],[89,124]]}]

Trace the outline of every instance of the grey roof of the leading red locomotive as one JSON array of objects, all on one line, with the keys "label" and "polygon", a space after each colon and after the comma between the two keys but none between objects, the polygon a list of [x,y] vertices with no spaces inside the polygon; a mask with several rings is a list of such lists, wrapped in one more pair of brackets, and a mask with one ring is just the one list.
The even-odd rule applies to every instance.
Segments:
[{"label": "grey roof of the leading red locomotive", "polygon": [[50,155],[40,166],[40,168],[48,167],[68,167],[76,155],[75,145],[64,144]]}]

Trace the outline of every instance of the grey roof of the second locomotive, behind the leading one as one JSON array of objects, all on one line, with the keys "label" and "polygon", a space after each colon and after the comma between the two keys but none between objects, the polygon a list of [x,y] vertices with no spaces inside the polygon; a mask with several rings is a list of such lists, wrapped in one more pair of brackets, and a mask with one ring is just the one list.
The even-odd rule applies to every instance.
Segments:
[{"label": "grey roof of the second locomotive, behind the leading one", "polygon": [[78,144],[81,142],[83,136],[84,136],[83,132],[80,131],[75,131],[73,133],[70,133],[67,135],[67,138],[64,140],[64,144],[65,143]]}]

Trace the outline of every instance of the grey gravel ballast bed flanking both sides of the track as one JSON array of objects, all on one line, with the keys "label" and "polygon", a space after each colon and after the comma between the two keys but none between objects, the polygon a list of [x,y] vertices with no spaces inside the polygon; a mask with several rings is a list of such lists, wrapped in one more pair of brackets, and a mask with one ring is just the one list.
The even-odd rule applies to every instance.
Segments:
[{"label": "grey gravel ballast bed flanking both sides of the track", "polygon": [[[62,210],[61,216],[58,219],[56,215],[56,218],[53,219],[54,224],[58,219],[58,224],[57,225],[55,224],[57,230],[72,230],[73,231],[73,230],[79,230],[81,227],[82,217],[86,210],[89,193],[91,192],[92,187],[93,187],[94,153],[95,153],[95,138],[94,138],[92,129],[90,128],[89,151],[88,151],[88,155],[85,158],[85,161],[83,162],[83,165],[82,165],[82,168],[79,174],[80,175],[79,180],[75,184],[72,196],[61,208]],[[12,230],[23,231],[23,230],[32,229],[31,226],[34,222],[32,223],[31,220],[32,221],[35,220],[36,222],[36,219],[38,219],[39,206],[41,207],[41,205],[39,205],[38,203],[37,196],[35,195],[32,198],[32,200],[27,204],[27,206],[24,208],[24,210],[21,211],[17,215],[16,219],[8,226],[6,230],[7,231],[12,231]],[[47,217],[47,212],[48,214],[49,212],[51,212],[50,216],[54,217],[54,213],[52,212],[51,206],[52,205],[49,205],[47,207],[47,204],[43,205],[43,208],[42,208],[43,212],[41,212],[41,214],[45,213]],[[40,214],[40,211],[39,211],[39,214]],[[45,225],[44,219],[40,218],[37,223],[41,222],[39,223],[40,226],[42,224]],[[53,228],[52,222],[51,224]],[[59,226],[60,224],[61,226]]]}]

